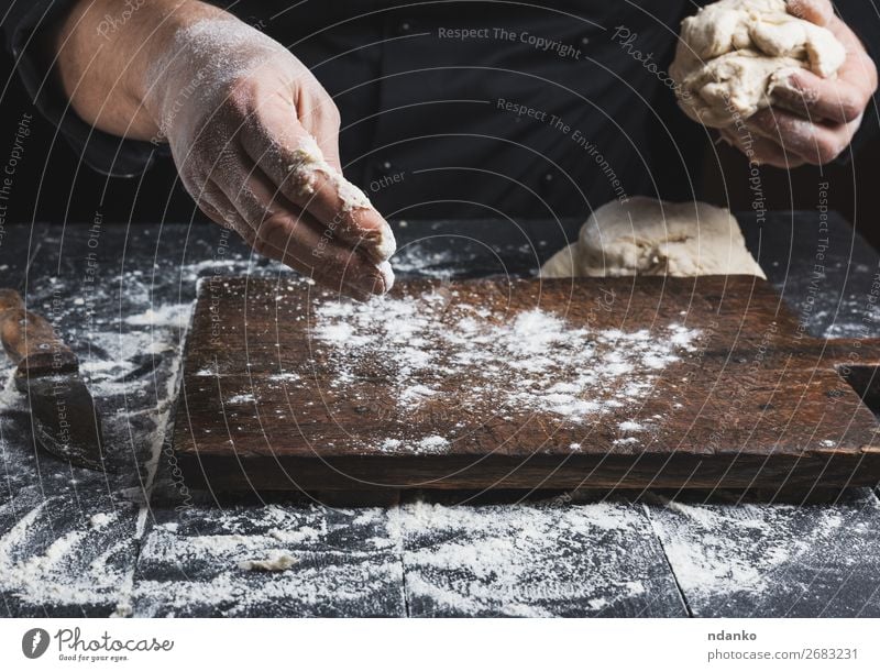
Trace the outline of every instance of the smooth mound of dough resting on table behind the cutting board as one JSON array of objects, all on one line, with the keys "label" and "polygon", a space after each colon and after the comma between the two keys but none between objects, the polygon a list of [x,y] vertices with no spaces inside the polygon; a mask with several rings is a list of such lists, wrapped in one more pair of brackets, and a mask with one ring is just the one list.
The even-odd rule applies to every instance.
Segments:
[{"label": "smooth mound of dough resting on table behind the cutting board", "polygon": [[541,267],[546,278],[627,275],[766,277],[726,208],[645,197],[595,210],[578,241]]}]

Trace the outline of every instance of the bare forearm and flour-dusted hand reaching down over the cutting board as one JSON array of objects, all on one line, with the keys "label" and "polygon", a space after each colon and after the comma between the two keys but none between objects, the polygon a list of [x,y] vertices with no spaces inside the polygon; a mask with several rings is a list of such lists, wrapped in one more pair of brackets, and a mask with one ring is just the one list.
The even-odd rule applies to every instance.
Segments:
[{"label": "bare forearm and flour-dusted hand reaching down over the cutting board", "polygon": [[[105,12],[122,7],[82,0],[59,36],[59,51],[80,64],[65,64],[62,53],[62,78],[81,117],[119,135],[167,140],[199,208],[257,252],[355,298],[391,288],[392,231],[342,177],[339,112],[297,58],[211,5],[158,0],[134,12],[131,34],[125,25],[116,31],[122,41],[105,58],[122,65],[106,73],[94,65],[100,58],[86,66],[76,53],[88,55],[82,32],[96,3]],[[97,82],[102,99],[78,88],[113,77],[113,86]]]}]

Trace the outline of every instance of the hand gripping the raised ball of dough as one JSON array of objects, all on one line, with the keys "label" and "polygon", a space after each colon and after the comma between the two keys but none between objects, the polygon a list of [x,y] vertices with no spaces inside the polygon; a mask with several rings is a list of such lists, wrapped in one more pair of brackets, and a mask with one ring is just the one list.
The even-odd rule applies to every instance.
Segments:
[{"label": "hand gripping the raised ball of dough", "polygon": [[[836,79],[798,69],[774,89],[777,106],[746,121],[755,161],[780,168],[834,161],[853,140],[877,90],[877,67],[855,33],[834,14],[829,0],[789,0],[789,12],[822,25],[844,45],[847,58]],[[722,136],[743,150],[735,129]]]}]

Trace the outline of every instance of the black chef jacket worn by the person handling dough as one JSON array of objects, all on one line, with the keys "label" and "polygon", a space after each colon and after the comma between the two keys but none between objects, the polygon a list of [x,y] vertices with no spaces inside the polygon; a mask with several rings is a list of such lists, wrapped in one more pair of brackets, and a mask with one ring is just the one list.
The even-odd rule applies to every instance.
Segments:
[{"label": "black chef jacket worn by the person handling dough", "polygon": [[[90,128],[48,71],[40,31],[72,1],[0,1],[7,44],[85,162],[136,175],[167,148]],[[546,218],[634,195],[698,196],[710,134],[676,108],[667,71],[679,24],[700,4],[240,0],[229,10],[312,69],[342,113],[345,174],[386,217]],[[838,4],[873,51],[870,3]]]}]

